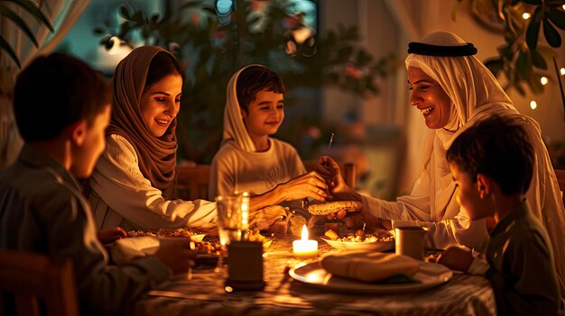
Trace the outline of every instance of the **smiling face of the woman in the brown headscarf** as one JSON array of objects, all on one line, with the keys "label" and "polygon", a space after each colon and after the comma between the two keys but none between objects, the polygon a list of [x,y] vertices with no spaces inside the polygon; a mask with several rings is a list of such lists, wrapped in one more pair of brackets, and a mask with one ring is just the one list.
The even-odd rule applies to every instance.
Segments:
[{"label": "smiling face of the woman in the brown headscarf", "polygon": [[141,97],[140,109],[153,136],[161,137],[181,109],[182,77],[169,75],[149,87]]}]

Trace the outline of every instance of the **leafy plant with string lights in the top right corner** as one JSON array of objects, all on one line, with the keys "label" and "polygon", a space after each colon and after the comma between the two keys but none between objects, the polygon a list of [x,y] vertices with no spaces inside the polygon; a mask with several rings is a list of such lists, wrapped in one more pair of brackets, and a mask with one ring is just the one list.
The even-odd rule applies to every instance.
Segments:
[{"label": "leafy plant with string lights in the top right corner", "polygon": [[514,88],[525,95],[524,86],[527,86],[533,94],[542,93],[541,77],[556,79],[553,59],[561,46],[558,29],[565,30],[562,7],[565,2],[470,0],[469,3],[477,23],[505,39],[505,44],[497,49],[498,56],[486,60],[486,67],[495,76],[505,77],[505,89]]}]

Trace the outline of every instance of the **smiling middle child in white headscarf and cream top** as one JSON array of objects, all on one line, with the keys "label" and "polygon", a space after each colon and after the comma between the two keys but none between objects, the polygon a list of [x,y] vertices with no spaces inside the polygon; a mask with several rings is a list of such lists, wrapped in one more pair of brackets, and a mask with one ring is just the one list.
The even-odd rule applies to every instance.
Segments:
[{"label": "smiling middle child in white headscarf and cream top", "polygon": [[[212,161],[209,198],[248,192],[252,211],[264,209],[265,217],[284,216],[282,207],[271,207],[306,197],[329,197],[323,177],[306,173],[296,149],[270,135],[284,119],[282,80],[269,68],[249,65],[227,85],[223,140]],[[261,212],[259,212],[261,216]]]}]

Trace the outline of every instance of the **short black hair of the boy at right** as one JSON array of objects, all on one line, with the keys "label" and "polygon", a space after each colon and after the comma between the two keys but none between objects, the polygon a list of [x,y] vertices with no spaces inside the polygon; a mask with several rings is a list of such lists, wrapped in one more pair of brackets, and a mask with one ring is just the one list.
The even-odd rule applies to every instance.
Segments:
[{"label": "short black hair of the boy at right", "polygon": [[463,131],[447,159],[477,179],[492,177],[503,194],[525,194],[533,175],[533,146],[519,122],[495,115]]}]

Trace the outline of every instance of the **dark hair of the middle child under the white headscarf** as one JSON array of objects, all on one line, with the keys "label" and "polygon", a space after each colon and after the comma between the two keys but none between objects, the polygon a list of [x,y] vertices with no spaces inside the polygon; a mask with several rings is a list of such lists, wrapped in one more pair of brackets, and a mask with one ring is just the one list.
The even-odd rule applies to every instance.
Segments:
[{"label": "dark hair of the middle child under the white headscarf", "polygon": [[245,68],[237,77],[236,93],[239,107],[247,113],[249,104],[255,100],[259,91],[273,91],[275,94],[285,94],[286,88],[282,79],[273,70],[251,66]]}]

